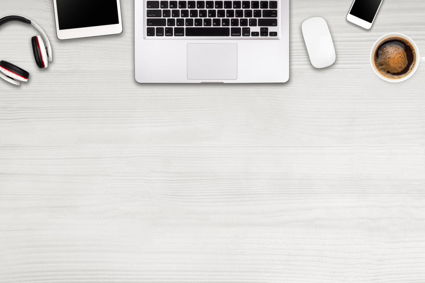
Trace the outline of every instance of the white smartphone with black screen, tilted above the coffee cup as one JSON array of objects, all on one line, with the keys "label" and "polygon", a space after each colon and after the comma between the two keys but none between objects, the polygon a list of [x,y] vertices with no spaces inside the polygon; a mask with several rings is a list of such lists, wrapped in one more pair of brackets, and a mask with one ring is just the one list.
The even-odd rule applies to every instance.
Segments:
[{"label": "white smartphone with black screen, tilted above the coffee cup", "polygon": [[370,29],[383,0],[354,0],[348,11],[347,21]]}]

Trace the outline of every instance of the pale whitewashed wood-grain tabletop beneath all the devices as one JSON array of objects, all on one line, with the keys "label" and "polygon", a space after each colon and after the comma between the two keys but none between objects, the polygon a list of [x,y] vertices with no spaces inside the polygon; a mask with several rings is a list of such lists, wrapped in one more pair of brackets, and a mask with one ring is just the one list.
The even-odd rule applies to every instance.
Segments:
[{"label": "pale whitewashed wood-grain tabletop beneath all the devices", "polygon": [[[425,64],[374,75],[390,31],[425,53],[425,2],[385,0],[371,31],[351,0],[291,3],[287,84],[140,85],[124,33],[56,38],[51,0],[1,0],[50,36],[0,29],[0,282],[425,282]],[[315,70],[300,25],[324,17],[337,62]],[[167,67],[167,66],[164,66]]]}]

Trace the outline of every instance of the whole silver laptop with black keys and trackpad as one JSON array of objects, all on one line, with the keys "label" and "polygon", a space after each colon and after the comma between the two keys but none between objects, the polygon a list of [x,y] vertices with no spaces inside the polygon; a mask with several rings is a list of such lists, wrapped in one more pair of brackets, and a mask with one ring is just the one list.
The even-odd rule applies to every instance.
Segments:
[{"label": "whole silver laptop with black keys and trackpad", "polygon": [[135,0],[140,83],[289,79],[289,0]]}]

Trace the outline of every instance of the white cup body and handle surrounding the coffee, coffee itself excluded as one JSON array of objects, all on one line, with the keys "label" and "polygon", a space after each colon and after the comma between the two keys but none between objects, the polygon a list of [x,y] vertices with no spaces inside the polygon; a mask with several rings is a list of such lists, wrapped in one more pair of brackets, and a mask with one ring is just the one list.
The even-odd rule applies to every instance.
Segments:
[{"label": "white cup body and handle surrounding the coffee, coffee itself excluded", "polygon": [[[408,42],[410,42],[411,44],[412,44],[412,47],[415,49],[415,53],[416,53],[416,64],[415,64],[415,67],[413,68],[413,70],[407,75],[407,76],[405,76],[405,77],[402,77],[402,78],[387,78],[387,77],[385,77],[384,75],[382,75],[379,71],[378,71],[378,69],[377,69],[377,67],[375,66],[375,52],[376,52],[376,49],[378,48],[378,46],[385,40],[385,39],[388,39],[388,38],[391,38],[391,37],[401,37],[401,38],[404,38],[404,39],[406,39]],[[389,33],[389,34],[384,34],[383,36],[381,36],[376,42],[375,42],[375,44],[372,46],[372,50],[371,50],[371,65],[372,65],[372,69],[374,70],[374,72],[375,72],[375,74],[377,74],[377,76],[378,77],[380,77],[380,78],[382,78],[384,81],[389,81],[389,82],[391,82],[391,83],[399,83],[399,82],[402,82],[402,81],[405,81],[405,80],[407,80],[408,78],[410,78],[411,76],[413,76],[413,74],[416,72],[416,70],[418,69],[418,67],[419,67],[419,62],[421,62],[421,61],[424,61],[425,62],[425,57],[421,57],[420,56],[420,54],[419,54],[419,48],[418,48],[418,46],[416,45],[416,43],[410,38],[410,37],[408,37],[407,35],[405,35],[405,34],[400,34],[400,33],[397,33],[397,32],[392,32],[392,33]]]}]

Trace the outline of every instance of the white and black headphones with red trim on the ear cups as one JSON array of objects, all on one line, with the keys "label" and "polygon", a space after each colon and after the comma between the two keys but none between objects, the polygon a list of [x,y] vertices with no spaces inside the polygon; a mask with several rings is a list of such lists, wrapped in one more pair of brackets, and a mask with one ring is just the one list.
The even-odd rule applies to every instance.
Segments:
[{"label": "white and black headphones with red trim on the ear cups", "polygon": [[[37,63],[37,66],[40,69],[47,68],[48,62],[52,61],[52,48],[45,32],[40,28],[39,25],[37,25],[32,20],[17,15],[11,15],[1,18],[0,26],[4,25],[6,22],[12,21],[18,21],[26,23],[28,25],[33,25],[34,28],[37,28],[37,30],[40,31],[42,37],[40,35],[31,37],[32,51],[34,53],[34,59]],[[11,64],[6,61],[0,61],[0,77],[11,84],[19,85],[20,81],[28,81],[29,73],[14,64]]]}]

